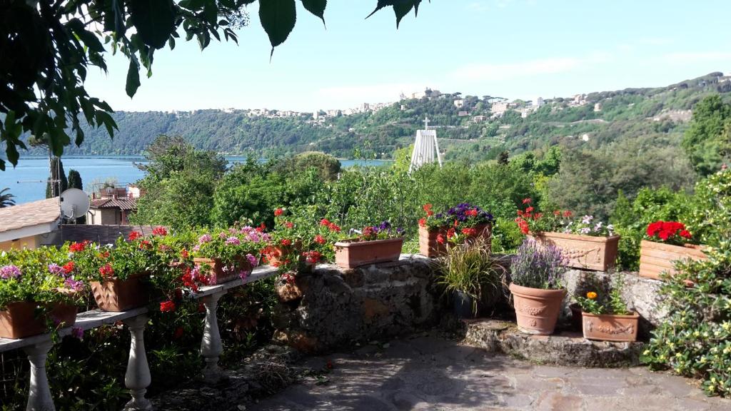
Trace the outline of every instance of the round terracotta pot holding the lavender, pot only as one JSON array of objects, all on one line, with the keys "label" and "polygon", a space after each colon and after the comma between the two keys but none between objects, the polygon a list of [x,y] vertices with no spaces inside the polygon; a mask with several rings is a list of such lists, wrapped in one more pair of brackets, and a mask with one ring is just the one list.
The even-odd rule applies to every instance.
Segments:
[{"label": "round terracotta pot holding the lavender, pot only", "polygon": [[518,330],[547,336],[553,333],[566,290],[541,290],[510,283]]}]

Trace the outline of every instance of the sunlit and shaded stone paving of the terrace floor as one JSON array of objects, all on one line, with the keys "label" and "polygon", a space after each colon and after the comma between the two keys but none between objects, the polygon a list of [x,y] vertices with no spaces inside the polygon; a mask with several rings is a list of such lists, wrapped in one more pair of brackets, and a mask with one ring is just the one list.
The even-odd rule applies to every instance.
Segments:
[{"label": "sunlit and shaded stone paving of the terrace floor", "polygon": [[328,361],[329,372],[239,410],[731,410],[692,380],[646,368],[537,366],[426,334],[306,360]]}]

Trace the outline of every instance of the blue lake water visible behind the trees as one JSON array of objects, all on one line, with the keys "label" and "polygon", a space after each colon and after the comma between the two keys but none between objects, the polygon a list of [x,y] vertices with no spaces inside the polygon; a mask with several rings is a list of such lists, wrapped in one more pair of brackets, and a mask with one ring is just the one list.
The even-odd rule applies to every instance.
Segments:
[{"label": "blue lake water visible behind the trees", "polygon": [[[63,157],[64,172],[77,170],[81,174],[86,191],[91,190],[92,182],[102,182],[115,178],[118,184],[129,184],[143,178],[145,173],[135,167],[135,162],[144,163],[142,157]],[[230,165],[245,162],[246,157],[226,157]],[[263,160],[262,160],[263,161]],[[343,167],[363,165],[363,160],[340,160]],[[368,165],[385,165],[387,160],[368,160]],[[48,157],[21,157],[18,167],[6,163],[5,171],[0,171],[0,189],[10,188],[15,195],[15,203],[22,204],[45,198],[48,179]]]}]

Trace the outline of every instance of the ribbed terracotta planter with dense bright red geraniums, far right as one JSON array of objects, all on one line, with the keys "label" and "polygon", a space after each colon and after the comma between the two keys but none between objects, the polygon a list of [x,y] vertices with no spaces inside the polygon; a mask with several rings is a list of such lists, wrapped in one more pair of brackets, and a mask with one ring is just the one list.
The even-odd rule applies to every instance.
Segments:
[{"label": "ribbed terracotta planter with dense bright red geraniums, far right", "polygon": [[679,260],[705,260],[705,246],[691,244],[693,235],[681,222],[656,221],[647,226],[640,242],[640,276],[660,279],[660,274],[675,274]]}]

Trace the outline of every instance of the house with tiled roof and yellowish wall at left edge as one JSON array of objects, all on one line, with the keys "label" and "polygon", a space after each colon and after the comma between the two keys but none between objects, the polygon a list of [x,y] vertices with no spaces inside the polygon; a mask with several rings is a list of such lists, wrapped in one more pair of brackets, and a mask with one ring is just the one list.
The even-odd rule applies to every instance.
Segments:
[{"label": "house with tiled roof and yellowish wall at left edge", "polygon": [[0,208],[0,251],[37,248],[60,222],[58,197]]}]

